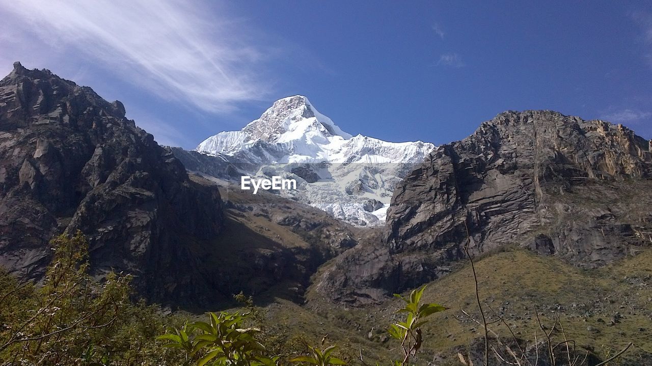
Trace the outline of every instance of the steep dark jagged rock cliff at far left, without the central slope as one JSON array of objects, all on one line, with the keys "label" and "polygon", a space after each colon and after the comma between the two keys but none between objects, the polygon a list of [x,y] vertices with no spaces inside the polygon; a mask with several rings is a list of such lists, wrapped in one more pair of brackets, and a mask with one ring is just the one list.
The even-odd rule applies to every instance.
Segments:
[{"label": "steep dark jagged rock cliff at far left, without the central slope", "polygon": [[190,180],[120,102],[18,63],[0,81],[1,266],[38,278],[48,240],[80,229],[95,274],[129,272],[151,300],[177,302],[207,283],[190,244],[221,227],[216,188]]}]

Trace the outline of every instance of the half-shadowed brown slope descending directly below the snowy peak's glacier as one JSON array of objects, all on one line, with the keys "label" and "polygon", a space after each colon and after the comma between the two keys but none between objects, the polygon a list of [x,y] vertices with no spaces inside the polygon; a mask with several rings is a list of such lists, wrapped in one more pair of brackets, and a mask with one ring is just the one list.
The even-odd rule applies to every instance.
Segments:
[{"label": "half-shadowed brown slope descending directly below the snowy peak's glacier", "polygon": [[201,257],[220,278],[220,290],[243,291],[257,302],[280,297],[303,303],[319,266],[372,231],[267,191],[254,195],[220,181],[220,193],[224,231],[201,248]]}]

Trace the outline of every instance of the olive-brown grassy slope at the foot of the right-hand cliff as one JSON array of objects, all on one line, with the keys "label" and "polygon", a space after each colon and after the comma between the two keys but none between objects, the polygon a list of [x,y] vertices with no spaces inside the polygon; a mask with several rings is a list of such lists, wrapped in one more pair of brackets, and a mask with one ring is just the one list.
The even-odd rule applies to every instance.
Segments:
[{"label": "olive-brown grassy slope at the foot of the right-hand cliff", "polygon": [[[652,249],[590,271],[554,257],[511,249],[478,260],[476,270],[481,300],[488,305],[490,320],[497,318],[489,307],[511,324],[517,337],[534,339],[534,330],[538,328],[536,308],[546,326],[552,326],[558,314],[568,339],[578,346],[604,358],[633,342],[627,356],[635,359],[640,352],[652,352],[650,264]],[[450,309],[435,315],[424,327],[426,341],[419,363],[450,356],[454,350],[481,337],[481,326],[471,320],[459,320],[464,318],[462,310],[480,319],[470,266],[431,283],[424,300]],[[298,330],[313,341],[328,333],[332,342],[344,346],[349,358],[355,358],[361,345],[368,359],[385,360],[398,354],[393,348],[398,345],[387,341],[384,328],[396,318],[394,311],[399,305],[396,300],[389,300],[378,307],[345,309],[328,302],[313,302],[308,307],[280,302],[268,307],[267,314],[271,321]],[[611,326],[610,320],[616,313],[621,318]],[[593,330],[587,330],[589,326]],[[490,328],[501,336],[509,336],[507,328],[499,323]],[[372,341],[367,339],[370,331]],[[541,337],[540,330],[537,334]],[[561,333],[557,339],[563,340]]]}]

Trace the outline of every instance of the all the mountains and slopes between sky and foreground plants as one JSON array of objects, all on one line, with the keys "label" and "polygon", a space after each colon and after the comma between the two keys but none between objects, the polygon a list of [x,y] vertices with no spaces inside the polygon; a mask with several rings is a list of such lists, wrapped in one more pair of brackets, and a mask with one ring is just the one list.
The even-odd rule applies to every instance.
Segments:
[{"label": "all the mountains and slopes between sky and foreground plants", "polygon": [[[652,364],[652,150],[624,126],[506,111],[461,141],[389,143],[304,96],[193,151],[137,123],[14,64],[0,81],[0,266],[40,283],[50,239],[79,230],[100,282],[132,274],[136,296],[190,318],[242,292],[282,337],[330,337],[351,364],[398,352],[392,295],[426,284],[448,309],[424,326],[417,365],[482,365],[476,302],[526,359],[552,327],[592,365],[630,342],[620,364]],[[244,174],[299,189],[254,195]]]}]

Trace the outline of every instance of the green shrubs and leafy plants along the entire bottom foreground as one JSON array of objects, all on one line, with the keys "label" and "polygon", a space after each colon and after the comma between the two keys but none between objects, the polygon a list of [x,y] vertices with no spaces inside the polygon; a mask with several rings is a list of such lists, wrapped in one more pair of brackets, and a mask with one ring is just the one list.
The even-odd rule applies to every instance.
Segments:
[{"label": "green shrubs and leafy plants along the entire bottom foreground", "polygon": [[[468,292],[468,286],[463,289],[451,286],[454,283],[446,284],[447,281],[456,281],[455,275],[459,277],[464,271],[441,280],[443,287],[428,291],[426,287],[422,287],[413,290],[409,296],[397,295],[400,299],[397,301],[402,305],[396,311],[392,310],[396,315],[392,317],[389,332],[381,331],[386,336],[378,343],[372,342],[375,345],[370,345],[369,339],[378,334],[374,333],[373,328],[369,339],[357,342],[347,340],[342,333],[334,332],[331,337],[323,335],[321,341],[316,341],[314,334],[288,331],[288,327],[279,326],[278,314],[270,316],[265,311],[269,309],[254,307],[251,298],[243,294],[237,295],[236,298],[244,303],[244,310],[209,313],[207,322],[184,322],[178,316],[164,315],[159,307],[146,305],[142,301],[134,303],[130,299],[128,275],[109,274],[102,283],[93,281],[87,273],[87,243],[80,232],[72,237],[58,236],[52,240],[52,247],[52,264],[46,272],[42,286],[18,281],[8,274],[0,274],[2,365],[276,366],[299,363],[327,366],[345,363],[368,365],[373,363],[370,361],[372,359],[378,359],[380,364],[391,363],[396,366],[424,364],[428,359],[432,359],[435,364],[469,365],[473,352],[476,352],[475,365],[479,364],[478,360],[480,364],[485,364],[484,359],[488,360],[489,365],[503,364],[502,361],[504,364],[541,366],[603,364],[595,359],[591,360],[589,351],[585,348],[577,347],[578,343],[583,341],[574,333],[576,328],[567,327],[565,330],[559,317],[550,323],[541,315],[541,318],[544,318],[541,320],[536,307],[535,315],[539,324],[532,329],[536,332],[537,327],[539,328],[539,339],[537,340],[537,333],[534,333],[535,342],[528,343],[524,339],[527,339],[529,334],[522,333],[514,319],[503,315],[504,310],[497,312],[494,307],[487,305],[484,310],[491,314],[482,320],[477,314],[479,309],[462,310],[466,318],[452,314],[455,310],[450,309],[441,313],[445,314],[442,317],[439,313],[445,310],[444,307],[436,303],[422,303],[422,300],[432,299],[433,296],[462,300],[466,302],[465,305],[471,305],[475,300],[481,307],[482,304],[493,302],[487,301],[486,298],[480,301],[479,292]],[[508,254],[518,256],[519,253],[516,251]],[[645,261],[645,258],[633,260]],[[477,264],[477,268],[482,274],[489,273],[482,260]],[[530,268],[534,271],[539,269],[541,268]],[[612,270],[620,274],[618,268]],[[569,269],[556,268],[556,271],[552,272],[572,276],[565,271]],[[492,277],[497,275],[500,274],[494,271]],[[486,279],[489,278],[490,276],[486,276]],[[478,279],[474,275],[473,280],[479,283],[481,288],[486,285],[484,277]],[[571,281],[567,281],[567,286],[570,284]],[[569,294],[582,293],[580,290],[567,290]],[[445,293],[447,291],[455,293]],[[497,295],[499,294],[490,294],[492,298]],[[296,308],[293,316],[301,317],[301,313],[306,310],[294,306]],[[290,305],[288,307],[291,308]],[[383,311],[379,310],[378,313]],[[351,311],[349,316],[356,316],[355,311]],[[430,318],[434,322],[427,324]],[[318,317],[309,319],[314,321]],[[338,328],[338,320],[323,320],[332,323],[331,329]],[[372,324],[378,326],[383,323],[378,320],[375,319]],[[454,326],[451,321],[458,326]],[[348,324],[342,327],[344,330],[351,330],[350,328],[355,326],[355,322],[350,318],[346,322]],[[320,323],[324,325],[324,322]],[[473,324],[488,335],[484,359],[478,334],[474,334],[475,330],[465,329]],[[315,324],[314,329],[319,328]],[[303,330],[306,330],[305,326]],[[354,333],[355,331],[351,331],[348,334]],[[511,333],[511,336],[503,337],[505,333]],[[390,337],[395,342],[391,346],[389,343],[385,345]],[[466,352],[462,352],[460,348],[458,359],[452,361],[451,358],[439,361],[432,358],[434,347],[441,347],[442,350],[451,348],[450,345],[445,345],[451,338],[452,341],[458,338],[466,339]],[[342,348],[330,345],[331,343],[340,343]],[[619,355],[615,348],[610,348],[610,352],[612,353],[605,355],[606,358]],[[621,364],[614,362],[608,364]]]}]

